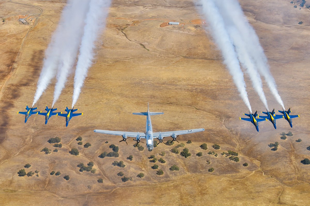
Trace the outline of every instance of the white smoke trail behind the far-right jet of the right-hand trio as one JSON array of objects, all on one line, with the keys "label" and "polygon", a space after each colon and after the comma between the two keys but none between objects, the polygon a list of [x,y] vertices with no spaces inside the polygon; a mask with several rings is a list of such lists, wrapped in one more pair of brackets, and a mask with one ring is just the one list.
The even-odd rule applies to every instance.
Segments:
[{"label": "white smoke trail behind the far-right jet of the right-hand trio", "polygon": [[219,5],[220,11],[225,15],[225,19],[230,19],[239,30],[242,40],[247,45],[248,54],[253,58],[260,74],[265,78],[268,88],[276,98],[277,102],[284,108],[283,101],[277,91],[276,82],[270,72],[268,60],[263,48],[259,43],[258,36],[254,28],[250,25],[246,16],[243,14],[241,6],[237,0],[225,1]]}]

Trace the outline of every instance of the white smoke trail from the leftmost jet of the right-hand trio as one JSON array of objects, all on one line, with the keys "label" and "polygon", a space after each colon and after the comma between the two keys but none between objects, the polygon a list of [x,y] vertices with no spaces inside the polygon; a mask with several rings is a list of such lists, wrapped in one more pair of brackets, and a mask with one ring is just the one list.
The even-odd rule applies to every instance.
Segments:
[{"label": "white smoke trail from the leftmost jet of the right-hand trio", "polygon": [[244,81],[243,72],[241,71],[232,41],[225,29],[224,20],[212,0],[200,0],[200,2],[202,4],[202,12],[210,24],[210,32],[213,36],[213,39],[215,40],[215,43],[218,45],[224,57],[224,64],[226,64],[228,67],[229,72],[232,75],[232,79],[236,84],[238,91],[240,92],[242,100],[252,113],[246,92],[246,84]]}]

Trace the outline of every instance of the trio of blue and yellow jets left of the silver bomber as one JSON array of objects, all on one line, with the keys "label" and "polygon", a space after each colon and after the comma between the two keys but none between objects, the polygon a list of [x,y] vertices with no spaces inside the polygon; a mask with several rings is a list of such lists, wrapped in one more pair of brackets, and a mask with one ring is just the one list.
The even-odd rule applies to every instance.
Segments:
[{"label": "trio of blue and yellow jets left of the silver bomber", "polygon": [[69,124],[69,121],[72,117],[76,117],[76,116],[79,116],[79,115],[83,115],[83,113],[73,113],[75,111],[78,111],[78,109],[69,109],[67,106],[66,106],[66,109],[64,109],[64,111],[67,112],[67,114],[62,114],[62,112],[54,112],[56,111],[58,108],[54,109],[53,107],[51,108],[48,108],[47,105],[45,105],[46,108],[44,110],[46,110],[46,112],[42,112],[42,111],[35,111],[36,109],[38,109],[38,107],[35,107],[35,108],[29,108],[27,105],[25,107],[25,109],[27,110],[26,112],[17,112],[17,114],[24,114],[25,115],[25,123],[27,122],[28,118],[32,115],[32,114],[40,114],[40,115],[43,115],[45,116],[45,124],[47,124],[47,121],[51,118],[51,116],[62,116],[62,117],[65,117],[66,118],[66,127],[68,127],[68,124]]}]

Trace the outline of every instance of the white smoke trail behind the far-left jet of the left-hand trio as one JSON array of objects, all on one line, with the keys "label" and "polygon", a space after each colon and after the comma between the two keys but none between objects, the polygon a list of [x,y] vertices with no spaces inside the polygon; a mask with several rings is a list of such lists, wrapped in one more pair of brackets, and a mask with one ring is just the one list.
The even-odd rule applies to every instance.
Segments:
[{"label": "white smoke trail behind the far-left jet of the left-hand trio", "polygon": [[72,15],[75,14],[76,9],[76,7],[74,7],[73,5],[76,5],[77,2],[82,1],[70,0],[61,13],[60,24],[57,26],[52,36],[51,42],[45,51],[43,67],[38,80],[37,90],[34,95],[32,106],[37,103],[42,93],[50,84],[51,79],[55,77],[60,54],[64,49],[67,49],[63,45],[65,45],[66,42],[70,41],[70,39],[72,38],[72,36],[64,34],[66,34],[66,29],[68,27],[71,27],[72,24],[75,23],[74,19],[72,19]]}]

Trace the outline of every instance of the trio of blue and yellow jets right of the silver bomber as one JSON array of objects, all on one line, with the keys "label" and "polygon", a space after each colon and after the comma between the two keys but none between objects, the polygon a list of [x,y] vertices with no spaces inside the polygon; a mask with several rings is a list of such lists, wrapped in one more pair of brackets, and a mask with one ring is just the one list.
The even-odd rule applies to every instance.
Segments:
[{"label": "trio of blue and yellow jets right of the silver bomber", "polygon": [[268,109],[266,109],[266,110],[267,110],[267,112],[262,112],[262,113],[263,114],[267,114],[267,116],[259,116],[257,114],[257,111],[254,114],[251,114],[250,111],[249,111],[249,114],[244,114],[244,115],[248,116],[249,118],[241,118],[241,117],[239,117],[239,118],[240,118],[240,120],[242,119],[242,120],[251,122],[255,126],[257,131],[259,131],[259,129],[258,129],[258,122],[261,122],[261,121],[264,121],[264,120],[266,120],[266,121],[269,120],[272,123],[273,127],[275,129],[277,129],[276,119],[284,118],[284,119],[286,119],[286,121],[289,122],[290,127],[293,127],[293,125],[292,125],[292,118],[296,118],[296,117],[300,118],[299,115],[290,115],[290,113],[292,112],[290,110],[290,108],[287,111],[285,109],[283,109],[283,111],[278,110],[278,112],[280,112],[282,114],[276,114],[274,109],[272,110],[272,112],[268,111]]}]

